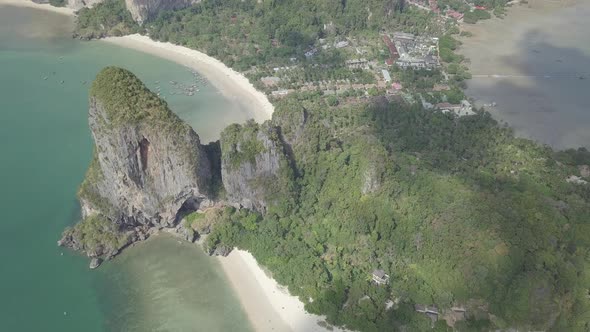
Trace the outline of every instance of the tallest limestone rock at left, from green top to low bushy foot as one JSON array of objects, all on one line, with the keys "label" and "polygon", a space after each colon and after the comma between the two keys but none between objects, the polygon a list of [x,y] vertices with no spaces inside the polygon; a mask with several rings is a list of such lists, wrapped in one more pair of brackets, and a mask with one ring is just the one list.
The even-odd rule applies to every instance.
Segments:
[{"label": "tallest limestone rock at left, from green top to low bushy foot", "polygon": [[[179,212],[209,204],[210,162],[199,137],[132,73],[109,67],[98,74],[89,123],[95,155],[79,191],[80,227],[94,218],[89,232],[111,233],[115,248],[149,228],[175,226]],[[74,229],[62,244],[90,255],[81,236],[92,237]]]}]

